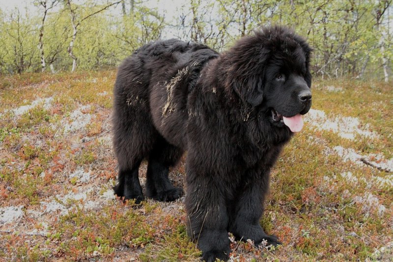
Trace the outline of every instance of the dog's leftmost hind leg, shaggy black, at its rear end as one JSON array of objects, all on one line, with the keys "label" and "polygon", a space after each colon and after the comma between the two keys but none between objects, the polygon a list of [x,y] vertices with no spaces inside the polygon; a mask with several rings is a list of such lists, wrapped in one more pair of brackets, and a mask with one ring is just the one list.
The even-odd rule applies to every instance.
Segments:
[{"label": "dog's leftmost hind leg, shaggy black, at its rear end", "polygon": [[[115,90],[117,91],[117,90]],[[124,199],[143,200],[138,178],[140,162],[148,157],[157,140],[148,108],[143,97],[119,94],[115,96],[113,114],[113,149],[118,162],[117,184],[114,193]],[[135,100],[130,101],[130,98]]]}]

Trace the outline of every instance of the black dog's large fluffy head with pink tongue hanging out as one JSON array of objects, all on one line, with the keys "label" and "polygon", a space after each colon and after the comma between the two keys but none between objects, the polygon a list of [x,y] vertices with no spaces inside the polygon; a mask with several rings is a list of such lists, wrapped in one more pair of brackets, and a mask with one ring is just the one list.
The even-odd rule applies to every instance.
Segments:
[{"label": "black dog's large fluffy head with pink tongue hanging out", "polygon": [[226,84],[243,103],[264,110],[273,125],[300,131],[301,114],[311,106],[311,51],[292,30],[265,27],[225,53],[231,61]]}]

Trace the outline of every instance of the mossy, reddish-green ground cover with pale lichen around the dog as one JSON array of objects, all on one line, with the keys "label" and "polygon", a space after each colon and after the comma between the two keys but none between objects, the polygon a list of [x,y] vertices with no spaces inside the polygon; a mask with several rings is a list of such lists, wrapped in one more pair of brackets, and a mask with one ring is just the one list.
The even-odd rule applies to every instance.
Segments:
[{"label": "mossy, reddish-green ground cover with pale lichen around the dog", "polygon": [[[22,217],[0,224],[0,261],[198,260],[180,201],[148,200],[137,207],[112,196],[114,79],[113,71],[0,78],[0,209],[23,210]],[[53,100],[13,113],[38,98]],[[334,150],[353,149],[377,164],[391,159],[392,107],[389,84],[316,79],[313,109],[331,120],[358,118],[358,128],[377,136],[347,139],[306,122],[272,171],[260,221],[283,245],[267,250],[232,239],[234,260],[364,261],[392,242],[393,186],[377,183],[392,173],[347,161]],[[79,121],[72,118],[76,110],[91,121],[65,132],[65,125]],[[90,179],[71,176],[76,170]],[[145,171],[143,162],[142,182]],[[177,186],[184,187],[184,176],[184,162],[171,170]]]}]

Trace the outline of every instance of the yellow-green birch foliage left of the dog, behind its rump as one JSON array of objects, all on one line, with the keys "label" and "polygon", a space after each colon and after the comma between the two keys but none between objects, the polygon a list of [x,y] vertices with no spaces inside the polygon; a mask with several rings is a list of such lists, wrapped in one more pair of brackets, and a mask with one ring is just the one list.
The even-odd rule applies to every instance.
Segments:
[{"label": "yellow-green birch foliage left of the dog, behind its rump", "polygon": [[[106,1],[71,1],[71,4],[75,8],[76,23],[80,23],[73,52],[78,69],[82,70],[117,66],[141,45],[160,38],[164,27],[163,15],[143,3],[135,3],[133,10],[124,15],[113,11],[114,6],[97,12],[110,5]],[[37,46],[43,8],[38,5],[31,8],[34,10],[26,10],[26,13],[35,14],[33,16],[25,16],[18,9],[7,15],[0,8],[0,75],[41,70]],[[43,49],[47,71],[51,66],[54,71],[71,69],[73,60],[67,51],[73,34],[70,17],[64,1],[46,15]]]}]

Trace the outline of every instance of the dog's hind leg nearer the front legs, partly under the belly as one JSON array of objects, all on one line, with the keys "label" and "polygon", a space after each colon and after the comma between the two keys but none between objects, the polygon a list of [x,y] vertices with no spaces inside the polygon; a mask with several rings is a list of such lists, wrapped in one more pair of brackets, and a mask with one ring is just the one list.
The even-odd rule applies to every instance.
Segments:
[{"label": "dog's hind leg nearer the front legs, partly under the belly", "polygon": [[169,167],[174,166],[183,152],[160,137],[149,154],[146,173],[146,196],[158,201],[174,201],[183,190],[172,185],[168,178]]}]

